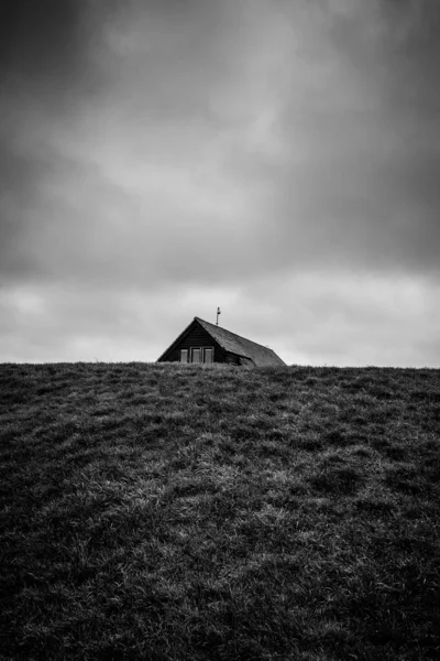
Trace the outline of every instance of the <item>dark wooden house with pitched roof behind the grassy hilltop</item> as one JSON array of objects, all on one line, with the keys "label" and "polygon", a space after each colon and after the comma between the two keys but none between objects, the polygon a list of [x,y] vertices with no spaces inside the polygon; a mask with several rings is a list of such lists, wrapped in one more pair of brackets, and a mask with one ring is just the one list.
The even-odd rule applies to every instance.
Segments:
[{"label": "dark wooden house with pitched roof behind the grassy hilltop", "polygon": [[194,317],[157,362],[228,362],[256,367],[286,365],[272,349]]}]

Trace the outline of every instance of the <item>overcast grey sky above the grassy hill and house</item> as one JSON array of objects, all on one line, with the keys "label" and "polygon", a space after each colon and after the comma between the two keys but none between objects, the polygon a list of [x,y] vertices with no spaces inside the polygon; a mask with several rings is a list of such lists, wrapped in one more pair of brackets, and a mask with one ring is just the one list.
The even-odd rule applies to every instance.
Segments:
[{"label": "overcast grey sky above the grassy hill and house", "polygon": [[0,361],[440,367],[438,0],[9,4]]}]

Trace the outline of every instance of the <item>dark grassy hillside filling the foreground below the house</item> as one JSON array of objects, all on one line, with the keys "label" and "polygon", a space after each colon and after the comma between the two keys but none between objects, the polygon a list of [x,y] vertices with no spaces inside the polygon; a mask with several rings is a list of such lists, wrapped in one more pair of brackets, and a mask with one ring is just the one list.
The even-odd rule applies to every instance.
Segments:
[{"label": "dark grassy hillside filling the foreground below the house", "polygon": [[0,366],[0,658],[440,658],[440,370]]}]

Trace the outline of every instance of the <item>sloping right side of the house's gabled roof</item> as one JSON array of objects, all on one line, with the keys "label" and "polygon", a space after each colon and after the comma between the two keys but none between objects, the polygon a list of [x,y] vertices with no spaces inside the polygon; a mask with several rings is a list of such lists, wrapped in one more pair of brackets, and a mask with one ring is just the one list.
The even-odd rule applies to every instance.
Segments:
[{"label": "sloping right side of the house's gabled roof", "polygon": [[[200,317],[195,317],[194,321],[198,322],[202,328],[226,350],[231,354],[237,354],[238,356],[242,356],[252,360],[254,365],[257,367],[270,367],[274,365],[286,365],[284,360],[282,360],[275,351],[270,349],[268,347],[263,347],[263,345],[256,344],[256,342],[252,342],[251,339],[246,339],[245,337],[241,337],[235,333],[231,333],[226,328],[221,328],[220,326],[216,326],[215,324],[210,324],[209,322],[205,322],[200,319]],[[243,361],[246,364],[249,360]]]}]

